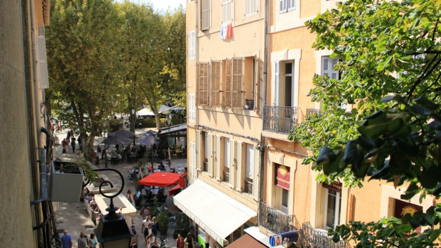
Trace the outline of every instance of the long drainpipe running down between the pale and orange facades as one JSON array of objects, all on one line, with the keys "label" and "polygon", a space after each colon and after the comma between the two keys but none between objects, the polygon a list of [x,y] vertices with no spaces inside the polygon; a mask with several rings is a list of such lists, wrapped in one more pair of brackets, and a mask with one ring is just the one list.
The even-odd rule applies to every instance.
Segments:
[{"label": "long drainpipe running down between the pale and orange facades", "polygon": [[[265,58],[265,62],[264,62],[264,81],[265,81],[265,86],[264,86],[264,92],[263,92],[263,103],[262,103],[262,110],[264,109],[264,106],[267,104],[267,92],[268,92],[268,59],[269,59],[269,52],[268,52],[268,39],[269,39],[269,35],[268,35],[268,30],[269,30],[269,22],[268,22],[268,11],[270,9],[270,2],[268,0],[265,0],[265,15],[264,15],[264,25],[265,25],[265,42],[264,42],[264,58]],[[262,131],[264,130],[264,120],[263,120],[263,111],[262,111]],[[262,134],[260,135],[260,177],[259,177],[259,205],[258,205],[258,209],[259,209],[259,215],[258,215],[258,220],[257,223],[260,223],[260,205],[264,199],[264,183],[265,183],[265,136],[263,136]]]}]

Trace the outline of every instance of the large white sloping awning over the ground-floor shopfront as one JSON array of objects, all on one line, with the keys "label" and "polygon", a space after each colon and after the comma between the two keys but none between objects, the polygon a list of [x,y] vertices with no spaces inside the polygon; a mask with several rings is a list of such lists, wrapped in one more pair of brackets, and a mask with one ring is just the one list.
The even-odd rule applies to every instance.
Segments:
[{"label": "large white sloping awning over the ground-floor shopfront", "polygon": [[221,245],[228,235],[257,216],[256,211],[199,179],[173,197],[173,203]]}]

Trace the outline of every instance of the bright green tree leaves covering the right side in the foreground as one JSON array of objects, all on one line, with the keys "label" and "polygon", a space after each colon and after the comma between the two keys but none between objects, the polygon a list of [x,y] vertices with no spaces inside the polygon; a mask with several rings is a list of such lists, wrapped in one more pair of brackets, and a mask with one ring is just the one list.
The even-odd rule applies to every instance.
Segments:
[{"label": "bright green tree leaves covering the right side in the foreground", "polygon": [[[309,96],[321,113],[289,136],[314,151],[303,162],[322,171],[318,181],[339,177],[355,187],[368,177],[406,185],[402,199],[441,196],[440,18],[438,0],[348,0],[306,22],[317,33],[313,47],[332,50],[341,72],[338,80],[315,75]],[[345,112],[338,102],[357,107]],[[432,247],[440,209],[329,233],[357,247]]]}]

